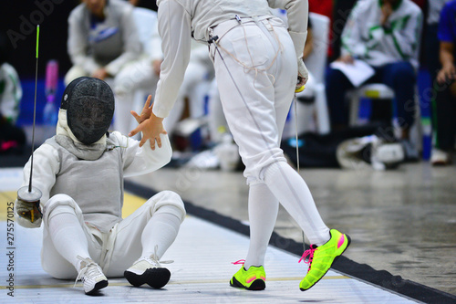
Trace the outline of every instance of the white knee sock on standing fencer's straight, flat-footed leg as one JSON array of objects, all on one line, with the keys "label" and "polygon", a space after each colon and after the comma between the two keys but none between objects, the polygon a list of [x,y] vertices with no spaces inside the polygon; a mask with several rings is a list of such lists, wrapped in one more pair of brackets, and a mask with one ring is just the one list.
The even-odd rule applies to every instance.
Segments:
[{"label": "white knee sock on standing fencer's straight, flat-footed leg", "polygon": [[279,202],[264,183],[249,188],[250,246],[244,268],[263,266],[269,239],[274,230]]}]

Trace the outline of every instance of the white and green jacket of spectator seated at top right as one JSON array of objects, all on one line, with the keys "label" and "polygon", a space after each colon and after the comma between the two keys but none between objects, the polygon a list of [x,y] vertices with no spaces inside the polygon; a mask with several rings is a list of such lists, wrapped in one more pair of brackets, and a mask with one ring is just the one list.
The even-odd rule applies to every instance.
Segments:
[{"label": "white and green jacket of spectator seated at top right", "polygon": [[422,13],[410,0],[393,7],[386,26],[380,25],[381,0],[358,1],[342,33],[342,55],[350,54],[380,67],[409,61],[418,68]]}]

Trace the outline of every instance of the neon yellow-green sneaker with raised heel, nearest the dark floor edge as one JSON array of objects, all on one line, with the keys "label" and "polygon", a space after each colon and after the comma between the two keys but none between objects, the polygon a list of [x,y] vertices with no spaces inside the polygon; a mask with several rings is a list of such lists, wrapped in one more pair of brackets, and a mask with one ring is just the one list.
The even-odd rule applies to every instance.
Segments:
[{"label": "neon yellow-green sneaker with raised heel, nearest the dark floor edge", "polygon": [[322,246],[311,245],[309,250],[306,250],[303,257],[299,259],[305,260],[309,256],[306,264],[309,265],[307,275],[301,283],[299,288],[305,291],[314,285],[326,275],[327,270],[333,265],[337,257],[342,255],[347,247],[350,245],[350,236],[338,232],[336,229],[329,231],[331,238]]}]

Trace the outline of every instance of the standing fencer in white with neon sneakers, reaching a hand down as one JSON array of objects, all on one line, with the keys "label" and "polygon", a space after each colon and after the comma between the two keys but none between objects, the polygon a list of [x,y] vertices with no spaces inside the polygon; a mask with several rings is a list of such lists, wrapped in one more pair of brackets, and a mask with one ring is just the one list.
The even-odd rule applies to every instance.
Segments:
[{"label": "standing fencer in white with neon sneakers, reaching a hand down", "polygon": [[[349,237],[325,225],[306,182],[279,147],[295,88],[307,79],[302,60],[307,0],[159,0],[157,5],[164,55],[160,80],[150,119],[130,136],[142,131],[140,145],[161,144],[162,121],[177,98],[191,39],[209,45],[223,112],[249,184],[250,247],[230,285],[265,288],[264,254],[280,202],[312,244],[299,286],[311,288],[345,251]],[[270,7],[287,10],[288,26]]]}]

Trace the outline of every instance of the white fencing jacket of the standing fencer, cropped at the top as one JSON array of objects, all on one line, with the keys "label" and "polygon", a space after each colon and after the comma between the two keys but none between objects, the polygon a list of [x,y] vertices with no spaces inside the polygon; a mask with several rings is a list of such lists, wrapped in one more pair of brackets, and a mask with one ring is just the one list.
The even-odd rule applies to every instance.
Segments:
[{"label": "white fencing jacket of the standing fencer, cropped at the top", "polygon": [[164,55],[153,113],[167,117],[177,99],[189,63],[191,39],[207,43],[209,28],[235,16],[272,16],[270,7],[287,10],[288,31],[301,58],[307,36],[307,0],[158,0]]}]

